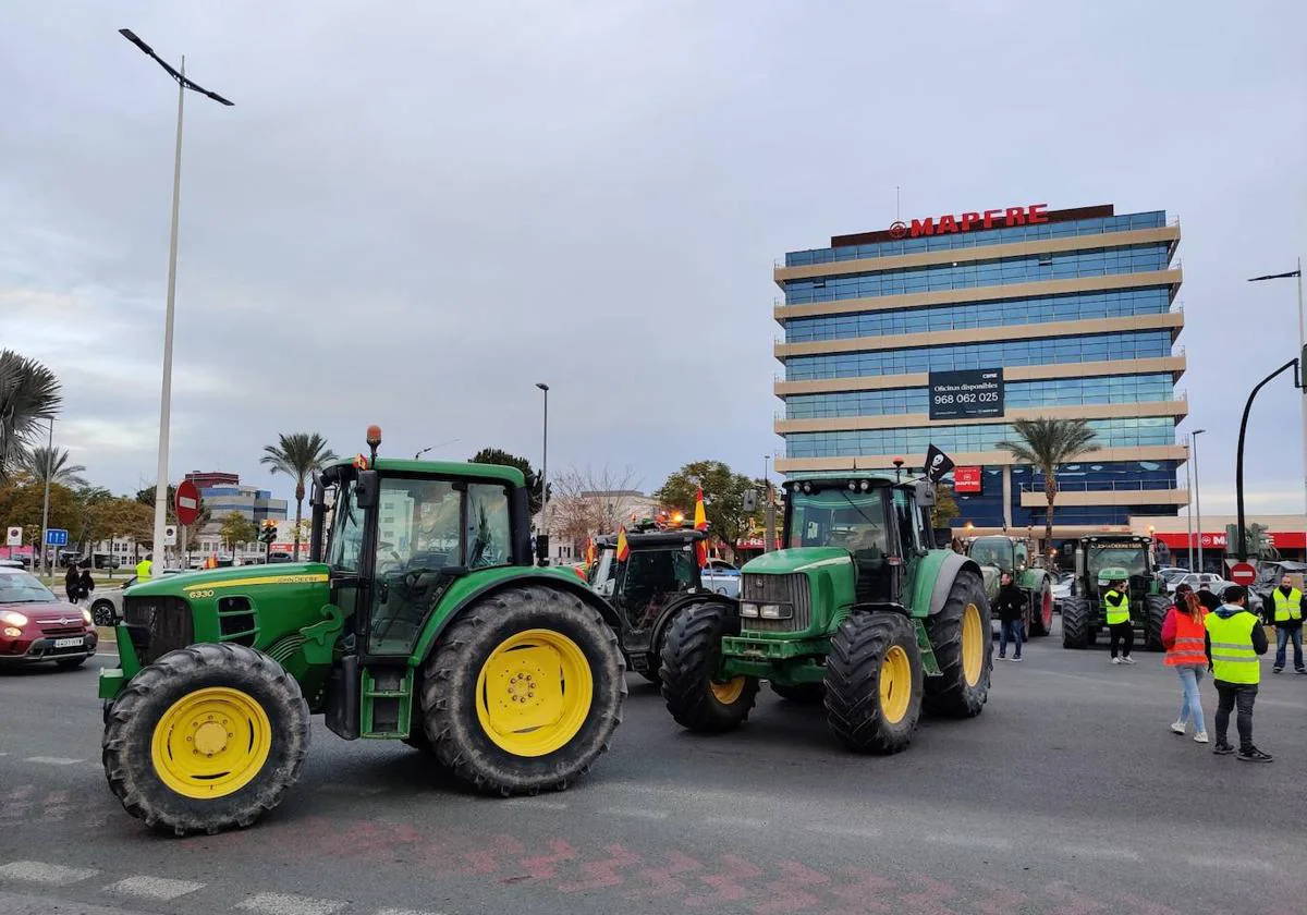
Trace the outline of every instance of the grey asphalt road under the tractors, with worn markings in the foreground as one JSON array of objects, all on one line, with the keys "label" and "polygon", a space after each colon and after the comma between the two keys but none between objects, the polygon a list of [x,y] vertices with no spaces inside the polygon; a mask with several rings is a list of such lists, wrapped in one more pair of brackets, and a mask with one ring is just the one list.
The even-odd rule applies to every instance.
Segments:
[{"label": "grey asphalt road under the tractors, with worn markings in the foreground", "polygon": [[1036,640],[997,665],[983,715],[928,720],[889,758],[842,752],[818,710],[767,691],[737,733],[691,736],[631,677],[595,771],[510,801],[316,727],[272,816],[190,839],[108,793],[94,664],[0,674],[0,912],[1307,910],[1307,677],[1266,663],[1259,766],[1172,736],[1179,685],[1137,657]]}]

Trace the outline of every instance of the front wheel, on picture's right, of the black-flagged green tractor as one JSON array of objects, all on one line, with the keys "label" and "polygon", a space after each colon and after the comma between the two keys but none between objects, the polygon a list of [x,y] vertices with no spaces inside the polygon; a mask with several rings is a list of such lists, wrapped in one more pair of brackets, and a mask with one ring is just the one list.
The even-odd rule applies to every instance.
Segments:
[{"label": "front wheel, on picture's right, of the black-flagged green tractor", "polygon": [[856,753],[898,753],[921,718],[924,680],[911,620],[855,613],[830,642],[826,723]]}]

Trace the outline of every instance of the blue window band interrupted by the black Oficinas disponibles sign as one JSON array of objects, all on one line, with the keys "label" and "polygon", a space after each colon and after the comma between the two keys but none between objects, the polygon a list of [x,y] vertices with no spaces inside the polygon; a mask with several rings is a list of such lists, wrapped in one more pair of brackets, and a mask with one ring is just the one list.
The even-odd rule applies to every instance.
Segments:
[{"label": "blue window band interrupted by the black Oficinas disponibles sign", "polygon": [[[1175,386],[1171,383],[1170,375],[1051,378],[1038,382],[1008,382],[1004,405],[1006,409],[1017,409],[1025,407],[1158,403],[1171,400],[1174,396]],[[786,397],[787,420],[928,412],[928,390],[924,387],[797,393]]]}]

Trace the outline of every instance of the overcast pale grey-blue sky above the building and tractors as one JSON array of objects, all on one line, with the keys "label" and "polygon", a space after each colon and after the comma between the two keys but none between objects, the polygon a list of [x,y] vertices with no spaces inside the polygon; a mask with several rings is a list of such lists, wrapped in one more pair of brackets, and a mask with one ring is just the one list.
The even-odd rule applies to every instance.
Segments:
[{"label": "overcast pale grey-blue sky above the building and tractors", "polygon": [[[1078,5],[1080,12],[1070,13]],[[775,259],[903,216],[1179,216],[1206,511],[1249,387],[1297,349],[1307,4],[59,3],[0,12],[0,346],[64,383],[56,444],[154,477],[175,92],[190,95],[173,477],[289,495],[277,433],[457,439],[550,467],[761,473]],[[1249,506],[1300,511],[1298,396]]]}]

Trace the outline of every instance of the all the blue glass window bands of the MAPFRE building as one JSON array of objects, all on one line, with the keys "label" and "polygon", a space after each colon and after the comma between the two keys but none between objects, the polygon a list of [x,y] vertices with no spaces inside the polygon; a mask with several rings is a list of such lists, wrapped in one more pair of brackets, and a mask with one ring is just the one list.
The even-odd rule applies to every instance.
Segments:
[{"label": "all the blue glass window bands of the MAPFRE building", "polygon": [[[1100,244],[1104,235],[1167,225],[1165,210],[1129,213],[1102,218],[1057,221],[1036,226],[974,230],[923,238],[903,238],[869,244],[852,244],[786,255],[787,267],[842,264],[847,261],[931,251],[984,248],[995,244],[1053,238],[1094,238]],[[1038,325],[1052,322],[1084,322],[1136,315],[1163,315],[1172,308],[1175,289],[1170,282],[1158,284],[1140,277],[1134,285],[1114,290],[1087,290],[1063,295],[1021,295],[1021,285],[1035,281],[1129,276],[1151,273],[1170,267],[1174,239],[1149,243],[1110,243],[1108,247],[1027,254],[1018,248],[1012,256],[993,256],[975,261],[953,263],[942,255],[936,264],[861,269],[857,273],[784,280],[787,305],[813,305],[850,299],[877,299],[889,295],[932,290],[985,290],[972,301],[918,307],[872,308],[852,314],[805,315],[782,320],[787,344],[826,340],[877,340],[893,345],[894,337],[907,333],[937,333],[972,328],[1004,328],[1002,340],[946,342],[937,345],[867,349],[852,353],[818,353],[787,356],[787,382],[835,380],[869,376],[924,374],[966,369],[1012,366],[1057,366],[1086,362],[1161,358],[1172,354],[1175,333],[1171,328],[1120,331],[1110,333],[1077,333],[1031,339]],[[1151,282],[1151,285],[1149,285]],[[1002,293],[1017,293],[1010,298]],[[962,293],[966,295],[967,293]],[[996,297],[997,294],[997,297]],[[895,302],[887,299],[886,303]],[[818,307],[810,308],[819,311]],[[965,335],[958,335],[965,336]],[[914,341],[919,342],[919,341]],[[1097,370],[1097,367],[1095,367]],[[898,380],[898,379],[895,379]],[[891,382],[894,383],[894,382]],[[1076,408],[1106,404],[1155,404],[1175,399],[1171,373],[1107,374],[1091,378],[1050,378],[1008,380],[1004,409],[1023,416],[1039,416],[1040,408]],[[829,430],[786,434],[786,454],[792,460],[853,459],[859,456],[903,456],[908,464],[924,459],[931,444],[945,452],[984,454],[997,451],[997,443],[1014,438],[1010,418],[982,424],[951,421],[929,422],[928,390],[923,386],[893,387],[876,391],[834,391],[799,393],[784,397],[788,420],[838,420],[856,417],[903,417],[901,427],[868,430]],[[1073,413],[1074,414],[1074,413]],[[1175,444],[1175,416],[1131,416],[1087,418],[1097,433],[1100,448],[1142,448]],[[1006,455],[1004,455],[1006,460]],[[957,494],[961,515],[953,522],[961,527],[1010,524],[1025,527],[1043,523],[1044,508],[1021,506],[1021,493],[1042,491],[1043,480],[1029,467],[1013,467],[1010,503],[1004,505],[1000,465],[982,468],[983,491]],[[1138,491],[1140,505],[1069,506],[1059,505],[1055,522],[1061,524],[1124,524],[1132,514],[1175,514],[1174,505],[1145,505],[1146,493],[1175,489],[1176,461],[1123,460],[1068,465],[1059,473],[1064,491]],[[1119,499],[1116,499],[1119,501]]]}]

